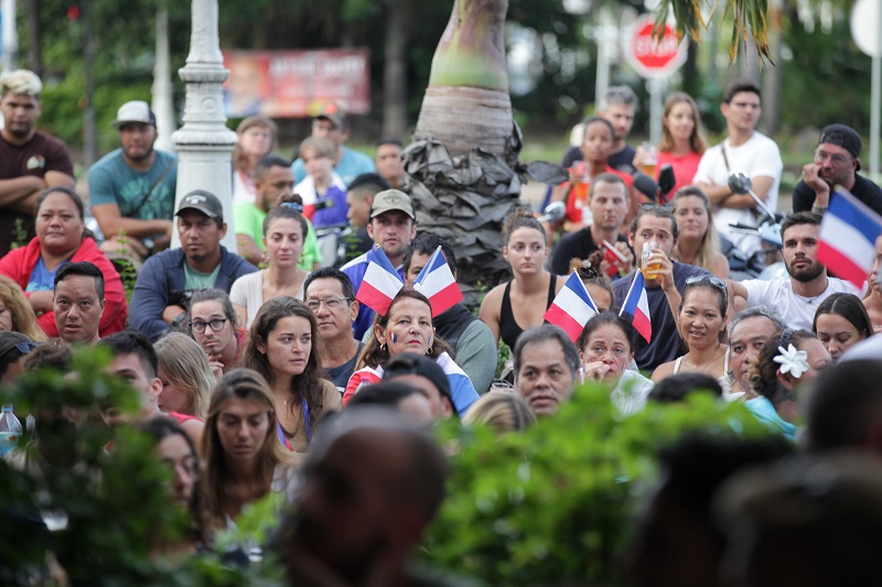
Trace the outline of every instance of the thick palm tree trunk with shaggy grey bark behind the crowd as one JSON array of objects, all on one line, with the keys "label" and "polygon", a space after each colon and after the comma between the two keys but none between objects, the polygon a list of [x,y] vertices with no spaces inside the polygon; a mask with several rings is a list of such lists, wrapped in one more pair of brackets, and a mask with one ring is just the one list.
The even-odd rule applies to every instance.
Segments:
[{"label": "thick palm tree trunk with shaggy grey bark behind the crowd", "polygon": [[417,224],[456,252],[465,303],[510,275],[502,221],[519,203],[520,137],[512,116],[505,59],[508,0],[455,0],[434,58],[405,189]]}]

